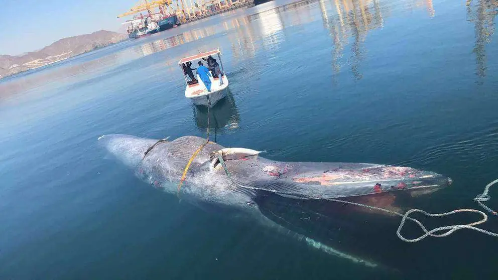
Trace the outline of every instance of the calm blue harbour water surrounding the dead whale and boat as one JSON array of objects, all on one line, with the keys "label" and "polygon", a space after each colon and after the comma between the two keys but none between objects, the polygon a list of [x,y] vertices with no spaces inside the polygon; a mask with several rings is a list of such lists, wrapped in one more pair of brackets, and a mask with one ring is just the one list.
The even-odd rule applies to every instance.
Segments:
[{"label": "calm blue harbour water surrounding the dead whale and boat", "polygon": [[[219,48],[219,144],[434,171],[454,183],[424,210],[481,209],[472,199],[498,178],[497,13],[495,0],[277,0],[0,80],[0,279],[498,278],[495,237],[407,244],[393,217],[350,238],[389,237],[371,257],[405,265],[369,268],[179,201],[97,145],[108,133],[204,137],[207,110],[184,97],[177,63]],[[498,209],[498,186],[490,195]]]}]

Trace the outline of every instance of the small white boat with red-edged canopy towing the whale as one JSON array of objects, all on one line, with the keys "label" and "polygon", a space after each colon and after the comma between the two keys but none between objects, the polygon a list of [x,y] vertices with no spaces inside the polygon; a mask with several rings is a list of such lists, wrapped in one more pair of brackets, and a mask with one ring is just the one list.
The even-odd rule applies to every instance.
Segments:
[{"label": "small white boat with red-edged canopy towing the whale", "polygon": [[[182,58],[178,65],[183,71],[183,76],[185,78],[186,88],[185,97],[189,98],[196,105],[202,105],[207,107],[213,107],[216,102],[226,96],[226,87],[228,87],[228,79],[226,78],[225,72],[223,71],[223,63],[221,63],[221,52],[219,50],[209,51],[205,53],[200,53],[192,56]],[[198,61],[207,64],[203,59],[207,59],[209,56],[217,56],[219,61],[219,70],[221,77],[209,77],[211,81],[211,90],[208,90],[204,82],[200,79],[199,75],[195,75],[196,79],[192,79],[190,75],[184,70],[187,67],[187,63],[192,63],[191,67],[198,67]],[[190,67],[190,66],[189,66]],[[192,73],[193,74],[193,73]],[[222,83],[221,83],[221,81]]]}]

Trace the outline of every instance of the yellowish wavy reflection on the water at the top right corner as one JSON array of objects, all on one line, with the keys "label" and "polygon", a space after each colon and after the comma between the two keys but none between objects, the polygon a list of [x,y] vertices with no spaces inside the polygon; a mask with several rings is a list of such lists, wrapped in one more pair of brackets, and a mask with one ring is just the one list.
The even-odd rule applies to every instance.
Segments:
[{"label": "yellowish wavy reflection on the water at the top right corner", "polygon": [[486,44],[491,41],[494,33],[494,18],[498,14],[498,1],[496,0],[467,0],[467,20],[474,23],[476,74],[486,76]]}]

